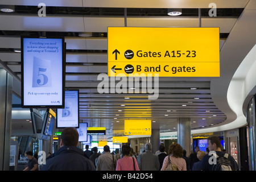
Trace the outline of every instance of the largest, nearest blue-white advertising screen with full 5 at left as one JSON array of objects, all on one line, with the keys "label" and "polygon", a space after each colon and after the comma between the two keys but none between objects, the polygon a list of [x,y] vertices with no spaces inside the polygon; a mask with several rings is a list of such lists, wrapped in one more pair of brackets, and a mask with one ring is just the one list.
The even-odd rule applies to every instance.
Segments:
[{"label": "largest, nearest blue-white advertising screen with full 5 at left", "polygon": [[22,107],[63,108],[64,38],[21,38]]}]

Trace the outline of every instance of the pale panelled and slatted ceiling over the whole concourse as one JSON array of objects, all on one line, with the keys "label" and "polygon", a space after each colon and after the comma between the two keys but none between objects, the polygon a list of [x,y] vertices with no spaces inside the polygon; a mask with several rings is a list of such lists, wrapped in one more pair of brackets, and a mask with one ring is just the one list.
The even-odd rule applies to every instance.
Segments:
[{"label": "pale panelled and slatted ceiling over the whole concourse", "polygon": [[[1,1],[1,5],[38,6],[40,1]],[[243,9],[240,16],[203,16],[202,27],[220,27],[220,34],[228,35],[220,39],[219,78],[175,78],[159,79],[158,100],[148,100],[147,94],[99,94],[97,85],[100,73],[108,73],[108,38],[94,36],[82,38],[73,36],[77,32],[107,33],[110,26],[124,26],[125,18],[114,12],[127,8],[127,12],[141,9],[209,9],[212,1],[44,1],[46,9],[53,7],[102,7],[113,9],[112,15],[47,14],[39,17],[32,13],[0,13],[0,60],[14,77],[14,94],[20,97],[20,35],[42,34],[46,32],[69,32],[67,42],[66,88],[80,89],[80,122],[89,126],[106,127],[106,138],[123,135],[124,119],[151,119],[152,128],[160,132],[176,131],[177,118],[191,118],[194,132],[220,130],[236,119],[227,100],[228,86],[236,69],[256,43],[256,3],[249,0],[214,1],[217,9]],[[27,9],[28,7],[26,7]],[[132,8],[132,9],[131,9]],[[102,9],[100,9],[103,11]],[[162,10],[163,11],[163,10]],[[127,14],[129,27],[198,27],[197,16],[133,16]],[[38,32],[38,33],[37,33]],[[86,50],[86,51],[85,51]],[[191,88],[197,88],[191,90]],[[130,97],[125,100],[125,97]],[[199,98],[195,100],[194,98]],[[121,106],[125,104],[125,106]],[[187,106],[181,106],[186,104]],[[122,108],[122,112],[118,110]],[[207,111],[209,110],[209,112]],[[118,114],[118,115],[117,115]],[[166,116],[168,114],[168,116]],[[216,115],[216,116],[213,116]],[[117,118],[117,119],[114,119]],[[119,121],[119,122],[116,122]],[[31,123],[26,119],[13,119],[13,134],[32,133]],[[205,130],[208,129],[208,130]],[[232,127],[225,129],[232,129]]]}]

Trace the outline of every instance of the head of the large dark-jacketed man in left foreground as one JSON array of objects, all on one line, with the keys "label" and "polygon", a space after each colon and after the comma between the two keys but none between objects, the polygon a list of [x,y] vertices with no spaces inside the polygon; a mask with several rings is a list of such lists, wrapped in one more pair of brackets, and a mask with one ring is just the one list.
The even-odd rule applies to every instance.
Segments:
[{"label": "head of the large dark-jacketed man in left foreground", "polygon": [[79,133],[73,127],[66,127],[60,136],[60,147],[63,146],[78,146]]}]

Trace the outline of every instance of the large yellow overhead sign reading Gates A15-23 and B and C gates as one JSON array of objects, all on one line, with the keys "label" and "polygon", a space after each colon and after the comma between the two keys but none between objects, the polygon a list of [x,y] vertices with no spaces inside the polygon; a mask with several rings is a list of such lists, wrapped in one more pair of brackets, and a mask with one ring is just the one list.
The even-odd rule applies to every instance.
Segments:
[{"label": "large yellow overhead sign reading Gates A15-23 and B and C gates", "polygon": [[109,27],[109,76],[218,77],[219,35],[218,27]]}]

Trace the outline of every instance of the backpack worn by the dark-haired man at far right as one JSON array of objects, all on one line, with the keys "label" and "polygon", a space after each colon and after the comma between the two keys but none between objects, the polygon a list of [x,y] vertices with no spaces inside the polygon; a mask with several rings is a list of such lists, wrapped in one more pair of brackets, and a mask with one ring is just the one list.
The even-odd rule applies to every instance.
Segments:
[{"label": "backpack worn by the dark-haired man at far right", "polygon": [[228,159],[229,154],[224,156],[217,155],[217,164],[213,165],[212,171],[233,171],[232,163]]}]

